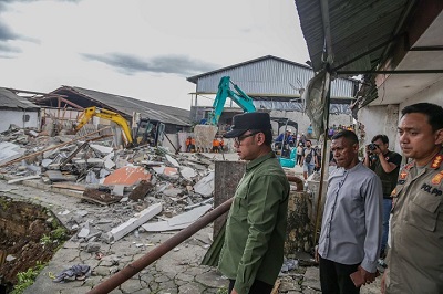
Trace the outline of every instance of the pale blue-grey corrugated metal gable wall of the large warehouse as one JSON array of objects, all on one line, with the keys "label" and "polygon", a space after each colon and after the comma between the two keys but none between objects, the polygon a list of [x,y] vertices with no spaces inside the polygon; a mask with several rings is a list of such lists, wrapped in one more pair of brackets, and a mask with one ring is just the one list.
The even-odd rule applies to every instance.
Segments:
[{"label": "pale blue-grey corrugated metal gable wall of the large warehouse", "polygon": [[[197,84],[197,94],[214,94],[223,76],[230,76],[230,81],[251,98],[288,99],[299,96],[298,90],[306,87],[313,71],[307,65],[267,55],[192,76],[187,81]],[[331,95],[353,97],[356,83],[351,78],[336,78]]]}]

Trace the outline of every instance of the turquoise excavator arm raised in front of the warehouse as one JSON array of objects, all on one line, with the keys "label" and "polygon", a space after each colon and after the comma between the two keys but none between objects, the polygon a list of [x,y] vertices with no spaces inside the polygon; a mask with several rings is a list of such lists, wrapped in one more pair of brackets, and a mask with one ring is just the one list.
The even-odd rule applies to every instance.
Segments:
[{"label": "turquoise excavator arm raised in front of the warehouse", "polygon": [[[230,88],[230,84],[234,85],[235,91]],[[218,83],[217,95],[213,104],[214,111],[209,116],[210,125],[218,124],[228,97],[231,98],[238,106],[240,106],[245,113],[254,113],[256,111],[253,99],[245,92],[243,92],[241,88],[234,84],[229,76],[224,76]]]}]

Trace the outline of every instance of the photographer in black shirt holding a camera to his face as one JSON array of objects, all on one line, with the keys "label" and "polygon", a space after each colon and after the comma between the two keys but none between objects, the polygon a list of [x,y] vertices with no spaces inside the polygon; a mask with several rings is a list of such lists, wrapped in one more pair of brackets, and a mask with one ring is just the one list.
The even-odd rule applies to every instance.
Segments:
[{"label": "photographer in black shirt holding a camera to his face", "polygon": [[383,188],[383,234],[381,239],[380,258],[384,259],[388,243],[389,217],[392,209],[391,192],[395,188],[396,178],[402,157],[400,154],[389,150],[387,135],[377,135],[367,146],[364,165],[380,177]]}]

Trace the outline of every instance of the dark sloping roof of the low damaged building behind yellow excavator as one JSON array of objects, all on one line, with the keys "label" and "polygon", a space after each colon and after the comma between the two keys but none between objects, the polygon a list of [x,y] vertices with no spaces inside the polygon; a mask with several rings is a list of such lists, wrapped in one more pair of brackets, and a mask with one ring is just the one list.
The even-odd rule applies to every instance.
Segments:
[{"label": "dark sloping roof of the low damaged building behind yellow excavator", "polygon": [[[96,102],[104,106],[112,108],[121,114],[125,114],[126,117],[132,117],[133,112],[141,113],[142,117],[158,120],[165,124],[178,125],[178,126],[190,126],[190,112],[177,107],[158,105],[146,101],[140,101],[131,97],[103,93],[99,91],[76,87],[76,86],[62,86],[52,93],[68,94],[66,99],[70,99],[70,95],[80,95],[86,97],[92,102]],[[75,101],[73,101],[75,103]],[[90,104],[84,107],[92,106]]]}]

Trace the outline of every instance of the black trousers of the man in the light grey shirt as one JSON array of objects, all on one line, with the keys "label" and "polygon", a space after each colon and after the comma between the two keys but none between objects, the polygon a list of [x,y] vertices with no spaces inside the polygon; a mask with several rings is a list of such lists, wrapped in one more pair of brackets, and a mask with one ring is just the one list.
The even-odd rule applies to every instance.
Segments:
[{"label": "black trousers of the man in the light grey shirt", "polygon": [[320,284],[323,294],[358,294],[351,273],[356,272],[359,264],[348,265],[326,260],[320,256]]}]

